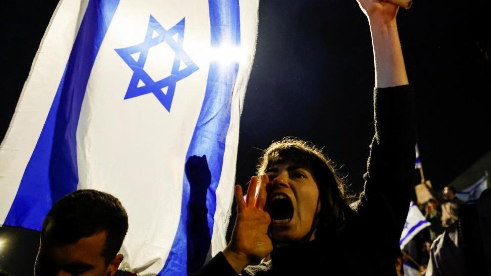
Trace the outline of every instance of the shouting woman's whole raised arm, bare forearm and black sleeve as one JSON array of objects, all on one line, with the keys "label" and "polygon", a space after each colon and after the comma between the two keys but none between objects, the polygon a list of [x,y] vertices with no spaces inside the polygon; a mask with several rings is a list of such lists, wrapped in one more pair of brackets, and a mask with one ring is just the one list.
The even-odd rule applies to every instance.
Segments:
[{"label": "shouting woman's whole raised arm, bare forearm and black sleeve", "polygon": [[377,226],[367,228],[367,233],[376,235],[384,229],[379,243],[391,250],[399,242],[414,193],[414,93],[407,85],[397,32],[398,7],[378,0],[357,1],[370,24],[375,61],[375,136],[357,211],[366,225]]}]

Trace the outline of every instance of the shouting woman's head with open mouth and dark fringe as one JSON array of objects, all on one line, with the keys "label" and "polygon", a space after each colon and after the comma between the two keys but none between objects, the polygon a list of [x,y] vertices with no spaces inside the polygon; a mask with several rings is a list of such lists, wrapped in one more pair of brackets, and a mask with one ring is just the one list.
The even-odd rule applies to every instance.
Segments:
[{"label": "shouting woman's head with open mouth and dark fringe", "polygon": [[274,142],[260,159],[258,174],[263,173],[270,179],[266,210],[276,242],[304,242],[344,226],[351,209],[343,182],[314,145],[292,138]]}]

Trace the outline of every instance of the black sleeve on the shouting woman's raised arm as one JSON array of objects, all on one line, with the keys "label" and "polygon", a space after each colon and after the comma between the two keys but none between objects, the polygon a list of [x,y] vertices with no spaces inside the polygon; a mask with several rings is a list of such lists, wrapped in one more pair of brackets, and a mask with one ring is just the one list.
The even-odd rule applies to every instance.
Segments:
[{"label": "black sleeve on the shouting woman's raised arm", "polygon": [[375,135],[358,214],[398,242],[414,193],[416,125],[410,85],[374,89]]}]

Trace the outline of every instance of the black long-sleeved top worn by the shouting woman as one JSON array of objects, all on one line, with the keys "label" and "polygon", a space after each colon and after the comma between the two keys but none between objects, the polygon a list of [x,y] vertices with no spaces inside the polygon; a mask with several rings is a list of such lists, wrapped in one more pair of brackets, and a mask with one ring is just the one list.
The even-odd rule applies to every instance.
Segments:
[{"label": "black long-sleeved top worn by the shouting woman", "polygon": [[[365,187],[346,226],[300,245],[275,248],[271,260],[242,275],[396,275],[395,256],[414,193],[416,126],[410,85],[374,89],[375,136]],[[197,275],[236,275],[220,252]]]}]

